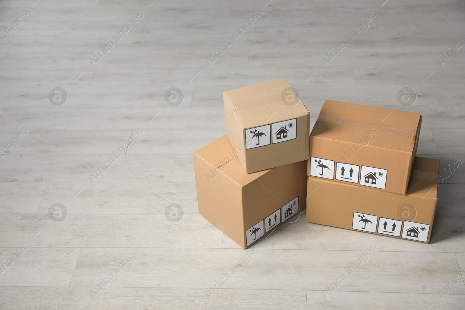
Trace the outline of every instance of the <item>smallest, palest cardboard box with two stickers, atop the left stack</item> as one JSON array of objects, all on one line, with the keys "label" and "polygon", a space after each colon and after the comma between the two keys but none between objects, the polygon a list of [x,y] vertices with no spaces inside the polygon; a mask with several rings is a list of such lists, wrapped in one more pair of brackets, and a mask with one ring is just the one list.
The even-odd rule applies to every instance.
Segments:
[{"label": "smallest, palest cardboard box with two stickers, atop the left stack", "polygon": [[223,92],[226,134],[247,173],[308,159],[310,113],[286,79]]}]

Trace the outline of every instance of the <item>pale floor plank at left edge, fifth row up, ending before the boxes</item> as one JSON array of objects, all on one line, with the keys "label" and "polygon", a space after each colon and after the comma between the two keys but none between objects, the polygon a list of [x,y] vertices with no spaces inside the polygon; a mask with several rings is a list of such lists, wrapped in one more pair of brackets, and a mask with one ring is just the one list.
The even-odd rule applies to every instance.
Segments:
[{"label": "pale floor plank at left edge, fifth row up, ending before the boxes", "polygon": [[[97,179],[93,169],[108,162],[108,155],[7,155],[1,160],[1,182],[166,182],[174,155],[125,155]],[[40,165],[36,165],[40,163]],[[15,171],[16,169],[17,171]],[[132,171],[131,171],[132,170]]]}]

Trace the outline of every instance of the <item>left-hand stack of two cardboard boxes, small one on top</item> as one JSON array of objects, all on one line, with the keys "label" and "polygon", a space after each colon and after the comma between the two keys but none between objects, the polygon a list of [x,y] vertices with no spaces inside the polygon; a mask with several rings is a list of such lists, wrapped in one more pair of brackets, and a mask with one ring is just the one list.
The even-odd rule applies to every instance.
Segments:
[{"label": "left-hand stack of two cardboard boxes, small one on top", "polygon": [[306,207],[310,113],[286,79],[224,107],[226,136],[193,153],[199,213],[246,249]]}]

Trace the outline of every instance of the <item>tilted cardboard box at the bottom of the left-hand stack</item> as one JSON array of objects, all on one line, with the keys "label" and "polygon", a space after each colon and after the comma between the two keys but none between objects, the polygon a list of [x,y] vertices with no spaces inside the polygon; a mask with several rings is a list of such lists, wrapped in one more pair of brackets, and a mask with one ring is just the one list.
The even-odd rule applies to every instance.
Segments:
[{"label": "tilted cardboard box at the bottom of the left-hand stack", "polygon": [[244,249],[305,209],[305,160],[247,174],[226,136],[193,157],[199,213]]}]

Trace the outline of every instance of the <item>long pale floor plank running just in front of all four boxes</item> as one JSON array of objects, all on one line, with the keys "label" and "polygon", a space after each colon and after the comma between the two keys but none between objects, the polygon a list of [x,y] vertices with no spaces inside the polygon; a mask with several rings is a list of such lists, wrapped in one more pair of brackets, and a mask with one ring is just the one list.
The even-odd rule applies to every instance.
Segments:
[{"label": "long pale floor plank running just in front of all four boxes", "polygon": [[[130,251],[83,248],[71,286],[98,283],[99,278],[107,277]],[[362,253],[261,249],[254,253],[243,269],[231,276],[225,288],[324,290],[325,284],[331,284],[342,272],[346,272],[345,268],[349,268]],[[219,278],[225,277],[228,268],[243,256],[243,250],[144,248],[137,260],[128,265],[112,285],[127,286],[136,281],[142,287],[209,288]],[[186,261],[196,267],[184,267]],[[290,261],[296,263],[289,264]],[[455,255],[375,251],[348,276],[344,287],[349,291],[366,291],[366,286],[373,292],[435,294],[438,287],[456,277],[458,272]],[[380,281],[380,277],[384,281]],[[457,286],[457,293],[465,293],[463,283]]]}]

